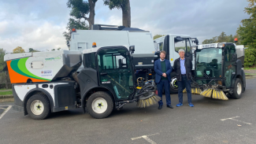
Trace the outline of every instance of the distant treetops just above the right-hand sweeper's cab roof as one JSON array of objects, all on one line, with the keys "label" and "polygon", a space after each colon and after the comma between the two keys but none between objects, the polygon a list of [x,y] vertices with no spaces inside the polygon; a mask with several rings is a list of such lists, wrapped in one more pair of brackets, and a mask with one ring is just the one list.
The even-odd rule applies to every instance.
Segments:
[{"label": "distant treetops just above the right-hand sweeper's cab roof", "polygon": [[212,39],[205,39],[202,41],[202,44],[208,43],[216,43],[216,42],[234,42],[234,39],[237,38],[238,35],[226,35],[224,31],[221,32],[221,35],[214,36]]}]

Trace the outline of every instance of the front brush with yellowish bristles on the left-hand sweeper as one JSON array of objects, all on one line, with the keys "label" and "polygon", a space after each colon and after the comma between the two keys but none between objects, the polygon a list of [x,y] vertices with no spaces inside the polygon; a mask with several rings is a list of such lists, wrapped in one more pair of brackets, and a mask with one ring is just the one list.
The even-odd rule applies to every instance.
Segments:
[{"label": "front brush with yellowish bristles on the left-hand sweeper", "polygon": [[144,86],[138,90],[135,95],[137,99],[137,106],[139,108],[145,108],[150,105],[158,104],[161,98],[155,94],[156,85],[154,82],[147,82]]}]

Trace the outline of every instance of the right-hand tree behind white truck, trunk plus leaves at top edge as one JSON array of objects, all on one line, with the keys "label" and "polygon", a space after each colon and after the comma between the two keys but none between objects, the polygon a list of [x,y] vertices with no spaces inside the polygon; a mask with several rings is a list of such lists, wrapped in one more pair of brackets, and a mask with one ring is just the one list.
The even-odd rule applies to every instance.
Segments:
[{"label": "right-hand tree behind white truck, trunk plus leaves at top edge", "polygon": [[127,28],[131,28],[131,6],[130,0],[103,0],[105,6],[109,6],[109,9],[122,9],[123,25]]}]

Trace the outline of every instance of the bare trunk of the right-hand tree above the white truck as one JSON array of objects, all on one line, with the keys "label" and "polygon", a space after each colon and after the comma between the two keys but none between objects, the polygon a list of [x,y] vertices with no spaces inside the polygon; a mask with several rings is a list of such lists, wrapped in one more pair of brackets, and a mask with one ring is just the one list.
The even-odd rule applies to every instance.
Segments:
[{"label": "bare trunk of the right-hand tree above the white truck", "polygon": [[121,6],[123,12],[123,25],[131,28],[131,7],[130,0],[127,0],[124,6]]}]

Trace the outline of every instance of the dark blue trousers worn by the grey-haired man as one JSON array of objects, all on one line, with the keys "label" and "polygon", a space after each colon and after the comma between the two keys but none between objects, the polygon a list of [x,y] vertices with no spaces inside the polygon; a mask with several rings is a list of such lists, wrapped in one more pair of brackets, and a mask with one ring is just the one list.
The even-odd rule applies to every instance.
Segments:
[{"label": "dark blue trousers worn by the grey-haired man", "polygon": [[187,80],[187,76],[181,76],[182,81],[178,81],[178,96],[179,103],[183,103],[183,90],[186,87],[187,90],[187,102],[191,103],[191,81]]}]

